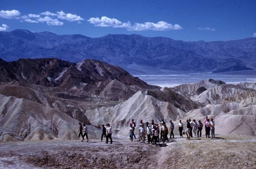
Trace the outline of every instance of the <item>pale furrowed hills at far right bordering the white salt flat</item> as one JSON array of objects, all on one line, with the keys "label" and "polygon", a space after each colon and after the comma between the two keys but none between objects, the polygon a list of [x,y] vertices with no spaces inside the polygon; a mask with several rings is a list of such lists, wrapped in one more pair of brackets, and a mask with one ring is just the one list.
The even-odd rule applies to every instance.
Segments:
[{"label": "pale furrowed hills at far right bordering the white salt flat", "polygon": [[220,104],[225,101],[240,102],[256,96],[255,83],[226,84],[222,81],[205,79],[195,84],[182,84],[174,89],[191,100],[207,104]]}]

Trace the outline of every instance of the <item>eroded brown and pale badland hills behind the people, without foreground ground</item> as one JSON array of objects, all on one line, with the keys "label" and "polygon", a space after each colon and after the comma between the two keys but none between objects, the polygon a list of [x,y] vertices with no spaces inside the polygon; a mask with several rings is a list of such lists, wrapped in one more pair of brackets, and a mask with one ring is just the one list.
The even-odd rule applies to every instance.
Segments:
[{"label": "eroded brown and pale badland hills behind the people, without foreground ground", "polygon": [[106,123],[115,137],[128,138],[132,118],[173,119],[177,127],[179,119],[206,115],[218,134],[256,134],[255,83],[206,79],[161,89],[104,62],[58,59],[1,60],[0,81],[0,141],[76,139],[78,122],[90,138]]}]

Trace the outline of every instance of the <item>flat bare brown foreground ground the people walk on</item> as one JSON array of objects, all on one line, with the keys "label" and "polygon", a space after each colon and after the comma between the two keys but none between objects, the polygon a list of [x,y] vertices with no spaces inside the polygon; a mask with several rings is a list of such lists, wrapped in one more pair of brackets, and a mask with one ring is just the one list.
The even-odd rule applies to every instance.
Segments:
[{"label": "flat bare brown foreground ground the people walk on", "polygon": [[256,137],[138,140],[47,140],[0,143],[0,168],[256,168]]}]

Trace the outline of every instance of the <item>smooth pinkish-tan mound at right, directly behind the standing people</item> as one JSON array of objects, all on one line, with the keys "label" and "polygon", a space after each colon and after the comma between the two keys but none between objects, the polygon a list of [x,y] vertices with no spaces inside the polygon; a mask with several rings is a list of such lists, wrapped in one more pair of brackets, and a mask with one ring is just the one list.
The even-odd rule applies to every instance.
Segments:
[{"label": "smooth pinkish-tan mound at right, directly behind the standing people", "polygon": [[[243,107],[236,103],[221,105],[207,105],[204,108],[192,110],[186,114],[187,118],[203,120],[205,116],[214,118],[215,132],[222,135],[253,135],[256,136],[256,105]],[[205,131],[203,130],[203,133]]]}]

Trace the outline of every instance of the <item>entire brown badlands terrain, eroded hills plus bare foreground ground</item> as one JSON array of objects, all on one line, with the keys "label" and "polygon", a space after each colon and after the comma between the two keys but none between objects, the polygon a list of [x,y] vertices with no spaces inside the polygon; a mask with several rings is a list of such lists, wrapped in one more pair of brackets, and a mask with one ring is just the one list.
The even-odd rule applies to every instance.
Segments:
[{"label": "entire brown badlands terrain, eroded hills plus bare foreground ground", "polygon": [[[256,166],[256,83],[205,79],[161,88],[93,59],[0,59],[0,71],[1,168]],[[203,137],[179,138],[180,119],[186,126],[206,115],[216,122],[215,139],[204,129]],[[130,141],[132,118],[165,119],[168,127],[172,119],[176,138],[166,147]],[[88,126],[89,142],[76,139],[79,122]],[[107,123],[113,145],[100,142]]]}]

